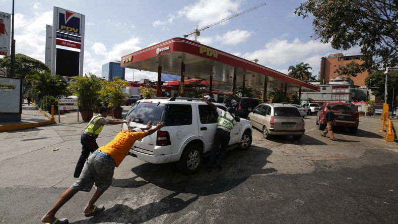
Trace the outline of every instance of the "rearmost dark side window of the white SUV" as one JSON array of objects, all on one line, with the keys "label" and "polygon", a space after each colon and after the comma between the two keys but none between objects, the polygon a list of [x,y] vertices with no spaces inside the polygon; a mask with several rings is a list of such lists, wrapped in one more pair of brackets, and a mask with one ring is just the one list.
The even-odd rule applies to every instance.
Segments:
[{"label": "rearmost dark side window of the white SUV", "polygon": [[166,126],[192,124],[192,106],[189,104],[169,104],[164,118]]}]

